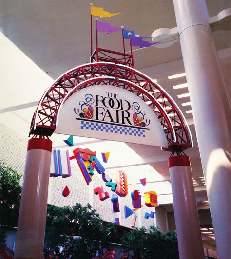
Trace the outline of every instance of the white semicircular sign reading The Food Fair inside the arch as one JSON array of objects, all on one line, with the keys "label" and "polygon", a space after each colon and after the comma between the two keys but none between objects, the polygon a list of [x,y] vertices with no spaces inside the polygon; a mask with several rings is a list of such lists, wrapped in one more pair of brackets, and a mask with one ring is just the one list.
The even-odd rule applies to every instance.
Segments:
[{"label": "white semicircular sign reading The Food Fair inside the arch", "polygon": [[67,99],[58,111],[55,133],[167,147],[150,107],[111,85],[87,87]]}]

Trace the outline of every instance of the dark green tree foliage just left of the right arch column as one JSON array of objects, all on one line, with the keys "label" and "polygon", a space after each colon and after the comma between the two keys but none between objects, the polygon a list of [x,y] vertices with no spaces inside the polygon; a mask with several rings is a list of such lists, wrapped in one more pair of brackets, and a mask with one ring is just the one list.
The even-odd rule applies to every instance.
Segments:
[{"label": "dark green tree foliage just left of the right arch column", "polygon": [[134,228],[124,232],[121,237],[121,249],[138,259],[178,259],[178,246],[175,231],[163,234],[160,229],[151,226]]}]

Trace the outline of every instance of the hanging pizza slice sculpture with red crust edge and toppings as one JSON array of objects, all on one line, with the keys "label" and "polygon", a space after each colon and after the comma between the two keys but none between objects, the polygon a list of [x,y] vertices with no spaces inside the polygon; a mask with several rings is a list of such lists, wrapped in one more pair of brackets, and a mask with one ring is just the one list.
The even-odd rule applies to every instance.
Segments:
[{"label": "hanging pizza slice sculpture with red crust edge and toppings", "polygon": [[78,166],[83,174],[83,177],[87,185],[89,185],[89,183],[92,181],[92,174],[89,174],[89,170],[87,169],[87,167],[90,166],[92,162],[92,161],[89,161],[89,159],[92,156],[95,157],[96,152],[92,152],[89,149],[76,148],[75,150],[73,150],[73,153],[77,160]]}]

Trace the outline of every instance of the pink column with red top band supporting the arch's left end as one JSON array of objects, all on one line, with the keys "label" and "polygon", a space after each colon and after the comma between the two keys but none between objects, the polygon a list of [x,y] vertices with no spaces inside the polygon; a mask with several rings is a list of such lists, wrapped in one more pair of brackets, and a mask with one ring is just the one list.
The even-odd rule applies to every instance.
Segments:
[{"label": "pink column with red top band supporting the arch's left end", "polygon": [[17,259],[41,259],[43,255],[51,149],[49,139],[28,141],[14,257]]}]

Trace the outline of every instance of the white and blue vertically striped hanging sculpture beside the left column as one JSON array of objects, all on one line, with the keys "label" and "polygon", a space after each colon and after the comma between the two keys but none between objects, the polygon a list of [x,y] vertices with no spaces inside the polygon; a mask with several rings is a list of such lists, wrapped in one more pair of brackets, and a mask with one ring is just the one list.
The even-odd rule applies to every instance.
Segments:
[{"label": "white and blue vertically striped hanging sculpture beside the left column", "polygon": [[71,165],[68,150],[52,150],[50,176],[62,176],[62,178],[71,176]]}]

